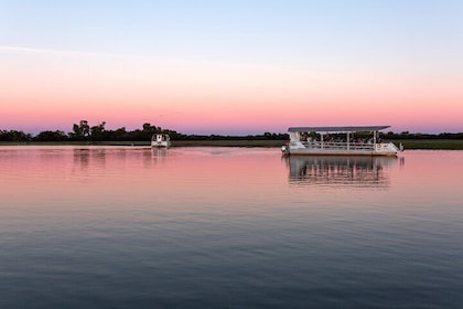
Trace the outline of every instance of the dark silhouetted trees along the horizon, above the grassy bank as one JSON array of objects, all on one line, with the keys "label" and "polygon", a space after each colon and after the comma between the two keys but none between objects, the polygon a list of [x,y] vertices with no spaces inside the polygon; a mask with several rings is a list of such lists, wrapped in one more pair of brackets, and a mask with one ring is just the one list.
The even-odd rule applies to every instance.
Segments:
[{"label": "dark silhouetted trees along the horizon, above the grassy bank", "polygon": [[[18,130],[1,130],[0,141],[31,142],[31,141],[149,141],[154,134],[168,134],[173,140],[288,140],[288,134],[265,132],[262,135],[224,136],[224,135],[184,135],[171,129],[163,129],[151,124],[143,124],[141,129],[127,130],[126,127],[110,130],[106,122],[90,126],[87,120],[73,125],[71,132],[62,130],[45,130],[36,136]],[[463,132],[451,134],[411,134],[392,131],[381,134],[384,139],[463,139]]]}]

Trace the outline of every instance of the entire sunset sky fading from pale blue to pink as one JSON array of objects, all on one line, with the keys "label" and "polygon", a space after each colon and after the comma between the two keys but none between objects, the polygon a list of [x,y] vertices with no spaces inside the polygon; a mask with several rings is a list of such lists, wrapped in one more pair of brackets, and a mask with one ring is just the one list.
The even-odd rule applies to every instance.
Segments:
[{"label": "entire sunset sky fading from pale blue to pink", "polygon": [[463,131],[463,1],[0,0],[0,129]]}]

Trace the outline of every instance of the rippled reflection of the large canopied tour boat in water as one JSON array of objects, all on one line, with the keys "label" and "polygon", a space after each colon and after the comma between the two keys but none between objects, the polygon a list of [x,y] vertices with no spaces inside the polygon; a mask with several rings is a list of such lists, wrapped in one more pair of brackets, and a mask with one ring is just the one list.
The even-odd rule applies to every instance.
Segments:
[{"label": "rippled reflection of the large canopied tour boat in water", "polygon": [[388,188],[387,167],[396,157],[291,156],[286,159],[289,182],[298,185]]}]

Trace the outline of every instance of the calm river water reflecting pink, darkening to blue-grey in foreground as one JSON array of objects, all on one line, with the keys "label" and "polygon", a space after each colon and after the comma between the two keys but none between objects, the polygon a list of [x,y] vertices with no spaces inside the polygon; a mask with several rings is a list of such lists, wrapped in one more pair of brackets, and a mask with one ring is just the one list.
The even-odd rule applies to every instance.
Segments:
[{"label": "calm river water reflecting pink, darkening to blue-grey in foreground", "polygon": [[0,148],[0,308],[462,308],[463,152]]}]

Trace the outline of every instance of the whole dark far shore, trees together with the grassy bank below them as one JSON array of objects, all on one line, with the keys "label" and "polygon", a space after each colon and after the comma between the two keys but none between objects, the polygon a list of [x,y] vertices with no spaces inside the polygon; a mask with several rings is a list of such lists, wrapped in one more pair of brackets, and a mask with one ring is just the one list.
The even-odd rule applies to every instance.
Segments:
[{"label": "whole dark far shore, trees together with the grassy bank below them", "polygon": [[[174,146],[241,146],[277,147],[289,139],[287,134],[265,132],[262,135],[223,136],[223,135],[184,135],[171,129],[163,129],[151,124],[143,124],[141,129],[127,130],[125,127],[109,130],[106,122],[96,126],[80,120],[73,125],[71,132],[45,130],[36,136],[18,130],[1,130],[0,142],[85,142],[106,145],[148,145],[153,134],[168,134]],[[384,140],[401,142],[406,149],[463,149],[463,132],[451,134],[410,134],[392,131],[380,135]]]}]

